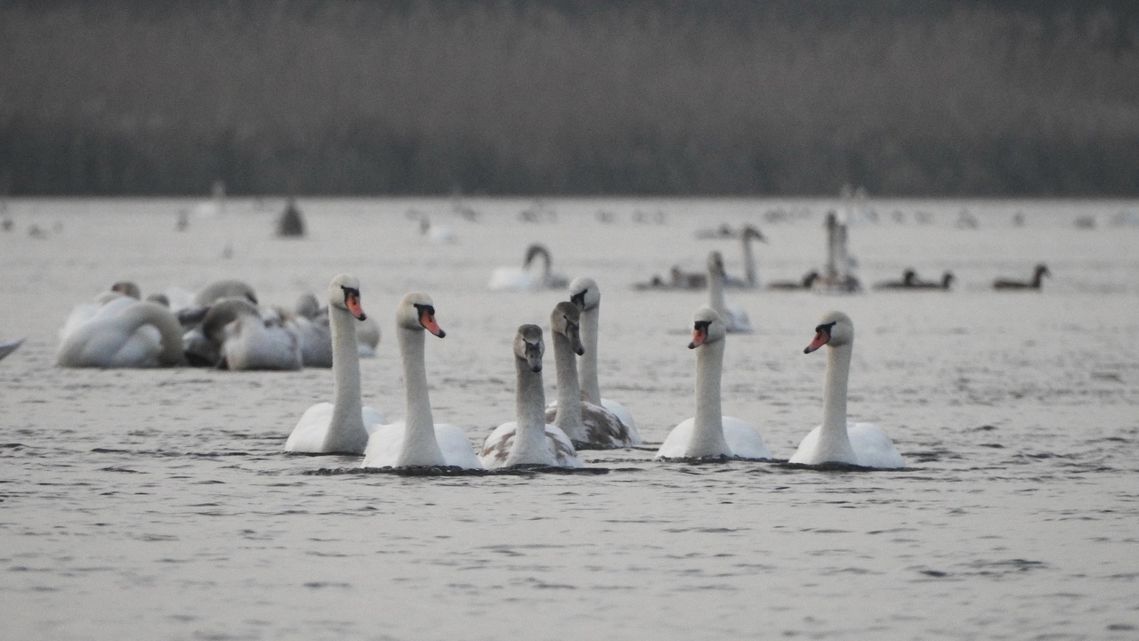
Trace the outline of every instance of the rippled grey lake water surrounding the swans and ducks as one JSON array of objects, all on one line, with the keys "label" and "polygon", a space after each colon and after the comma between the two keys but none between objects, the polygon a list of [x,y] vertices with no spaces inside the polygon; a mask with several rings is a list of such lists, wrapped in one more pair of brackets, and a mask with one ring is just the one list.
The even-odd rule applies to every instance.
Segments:
[{"label": "rippled grey lake water surrounding the swans and ducks", "polygon": [[[1136,203],[876,203],[906,224],[852,228],[863,281],[948,268],[956,291],[729,292],[757,331],[729,339],[724,411],[789,456],[821,415],[825,359],[802,348],[822,311],[844,309],[858,327],[850,412],[886,428],[903,471],[628,449],[583,453],[583,473],[341,473],[359,460],[281,452],[330,397],[328,371],[52,366],[71,307],[117,279],[149,293],[240,277],[292,305],[353,271],[386,332],[362,362],[366,403],[402,413],[387,319],[403,292],[427,291],[448,332],[427,348],[436,420],[477,440],[514,411],[514,330],[547,325],[564,295],[483,284],[541,241],[556,270],[599,282],[603,389],[658,443],[691,414],[685,347],[703,294],[630,285],[711,249],[739,273],[735,242],[693,232],[744,220],[770,240],[761,278],[795,278],[821,262],[835,203],[552,201],[557,221],[542,224],[517,222],[526,201],[473,201],[477,224],[446,201],[301,204],[304,241],[271,236],[277,202],[229,203],[182,233],[192,203],[8,203],[0,339],[27,341],[0,362],[5,638],[1139,635],[1139,228],[1108,225]],[[779,206],[798,216],[767,224]],[[419,237],[409,208],[459,242]],[[954,226],[962,209],[980,228]],[[1099,225],[1076,229],[1079,216]],[[989,291],[1040,260],[1043,292]],[[552,367],[546,382],[552,398]]]}]

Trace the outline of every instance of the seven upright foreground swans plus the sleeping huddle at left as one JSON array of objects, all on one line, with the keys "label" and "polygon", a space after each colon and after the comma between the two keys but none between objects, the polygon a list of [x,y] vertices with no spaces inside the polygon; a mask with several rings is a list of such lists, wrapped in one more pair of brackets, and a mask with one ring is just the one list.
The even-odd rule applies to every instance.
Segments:
[{"label": "seven upright foreground swans plus the sleeping huddle at left", "polygon": [[[714,269],[722,269],[722,262],[710,260],[710,275]],[[696,350],[695,415],[669,433],[656,459],[770,460],[771,453],[754,427],[721,412],[726,336],[736,319],[730,309],[719,311],[715,307],[718,301],[722,303],[722,277],[708,283],[712,305],[700,306],[694,314],[688,346]],[[71,367],[159,367],[198,358],[198,365],[294,370],[305,364],[302,343],[313,343],[309,347],[318,351],[314,343],[327,341],[331,401],[317,403],[302,414],[285,441],[286,452],[360,455],[363,468],[581,468],[580,449],[644,446],[632,414],[600,392],[600,289],[592,278],[575,278],[570,283],[568,299],[550,314],[548,334],[538,325],[517,328],[513,342],[515,417],[495,428],[477,448],[462,429],[435,422],[432,412],[426,336],[442,339],[446,334],[427,294],[408,293],[395,310],[403,419],[388,422],[383,412],[363,405],[360,358],[371,352],[374,343],[369,347],[361,339],[374,336],[378,341],[378,326],[364,313],[360,282],[347,274],[329,283],[327,307],[321,308],[314,297],[304,297],[293,313],[259,309],[256,294],[240,281],[213,283],[198,292],[191,305],[177,310],[164,297],[140,300],[136,285],[116,283],[72,311],[60,331],[56,358],[58,365]],[[823,421],[803,439],[790,462],[903,466],[885,432],[866,423],[846,423],[853,323],[842,313],[831,313],[814,332],[806,351],[828,348]],[[549,404],[542,382],[547,340],[552,346],[557,379],[557,398]]]}]

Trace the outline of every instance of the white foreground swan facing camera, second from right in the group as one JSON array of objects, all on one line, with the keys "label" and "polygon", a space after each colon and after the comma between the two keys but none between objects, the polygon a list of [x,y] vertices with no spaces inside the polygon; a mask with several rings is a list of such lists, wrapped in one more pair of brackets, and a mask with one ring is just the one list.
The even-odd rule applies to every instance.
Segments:
[{"label": "white foreground swan facing camera, second from right in the group", "polygon": [[698,456],[739,456],[771,459],[763,438],[747,422],[724,416],[720,406],[720,375],[723,371],[723,319],[711,307],[693,315],[693,342],[696,349],[696,415],[669,432],[656,452],[657,459]]}]

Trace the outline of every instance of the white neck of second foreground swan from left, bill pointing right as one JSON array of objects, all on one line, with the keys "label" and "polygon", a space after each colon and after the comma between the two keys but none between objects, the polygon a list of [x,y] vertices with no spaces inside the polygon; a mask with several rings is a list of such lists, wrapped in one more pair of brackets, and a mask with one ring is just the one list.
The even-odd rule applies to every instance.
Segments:
[{"label": "white neck of second foreground swan from left, bill pointing right", "polygon": [[444,465],[443,452],[435,440],[435,421],[427,395],[427,367],[424,364],[424,331],[399,327],[396,339],[403,360],[403,387],[407,416],[398,466]]}]

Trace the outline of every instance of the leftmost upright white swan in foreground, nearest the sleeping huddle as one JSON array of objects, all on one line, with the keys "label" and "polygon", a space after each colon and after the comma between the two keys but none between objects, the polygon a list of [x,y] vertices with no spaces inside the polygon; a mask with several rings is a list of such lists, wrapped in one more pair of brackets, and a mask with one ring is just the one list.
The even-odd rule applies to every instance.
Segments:
[{"label": "leftmost upright white swan in foreground, nearest the sleeping huddle", "polygon": [[285,452],[308,454],[363,454],[368,428],[384,423],[384,415],[363,407],[360,398],[360,356],[355,323],[367,316],[360,306],[360,282],[341,274],[328,285],[328,314],[333,332],[333,403],[318,403],[301,415],[285,441]]}]

